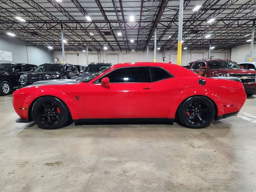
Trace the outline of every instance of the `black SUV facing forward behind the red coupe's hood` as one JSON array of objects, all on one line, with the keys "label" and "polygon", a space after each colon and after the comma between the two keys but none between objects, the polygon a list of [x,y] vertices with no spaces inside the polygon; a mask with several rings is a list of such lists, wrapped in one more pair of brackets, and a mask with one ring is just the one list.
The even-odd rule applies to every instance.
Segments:
[{"label": "black SUV facing forward behind the red coupe's hood", "polygon": [[72,64],[45,63],[38,66],[33,72],[21,75],[19,80],[19,88],[43,80],[76,79],[78,75],[79,72]]}]

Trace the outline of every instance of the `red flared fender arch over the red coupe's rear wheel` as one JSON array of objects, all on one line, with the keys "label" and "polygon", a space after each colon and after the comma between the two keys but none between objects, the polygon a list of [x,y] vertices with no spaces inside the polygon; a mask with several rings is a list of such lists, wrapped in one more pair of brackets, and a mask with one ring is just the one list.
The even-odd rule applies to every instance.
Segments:
[{"label": "red flared fender arch over the red coupe's rear wheel", "polygon": [[180,104],[187,98],[190,98],[191,96],[205,96],[212,99],[217,106],[218,116],[223,115],[224,107],[218,94],[206,88],[191,88],[184,90],[174,98],[174,100],[170,104],[168,118],[175,118],[176,111]]}]

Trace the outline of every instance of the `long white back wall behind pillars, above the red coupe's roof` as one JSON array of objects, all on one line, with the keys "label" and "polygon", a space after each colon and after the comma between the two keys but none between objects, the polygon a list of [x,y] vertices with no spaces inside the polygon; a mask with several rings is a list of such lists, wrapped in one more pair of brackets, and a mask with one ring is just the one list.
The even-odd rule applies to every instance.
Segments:
[{"label": "long white back wall behind pillars, above the red coupe's roof", "polygon": [[[154,61],[154,51],[149,51],[149,62]],[[212,51],[213,58],[220,59],[229,59],[230,51],[229,50],[213,50]],[[86,52],[77,51],[77,52],[65,52],[66,63],[70,64],[80,64],[87,66],[86,64]],[[164,62],[172,62],[174,64],[177,63],[177,51],[168,51],[165,54],[166,58]],[[54,57],[59,58],[59,62],[62,63],[62,53],[54,52]],[[163,62],[162,54],[157,52],[156,62]],[[100,52],[100,60],[98,59],[97,52],[89,52],[88,53],[89,63],[90,62],[111,62],[112,64],[124,63],[124,62],[146,62],[147,61],[147,53],[146,52],[112,52],[112,51],[101,51]],[[194,61],[196,59],[208,58],[208,50],[194,50],[194,51],[182,51],[182,65],[187,65],[190,61]]]}]

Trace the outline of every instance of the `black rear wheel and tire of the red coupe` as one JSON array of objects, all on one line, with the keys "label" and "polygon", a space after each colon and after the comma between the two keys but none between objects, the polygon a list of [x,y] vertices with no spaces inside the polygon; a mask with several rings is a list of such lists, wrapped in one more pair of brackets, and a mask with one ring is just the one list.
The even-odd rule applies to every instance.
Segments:
[{"label": "black rear wheel and tire of the red coupe", "polygon": [[192,96],[177,111],[178,122],[188,128],[204,128],[215,116],[214,104],[204,96]]}]

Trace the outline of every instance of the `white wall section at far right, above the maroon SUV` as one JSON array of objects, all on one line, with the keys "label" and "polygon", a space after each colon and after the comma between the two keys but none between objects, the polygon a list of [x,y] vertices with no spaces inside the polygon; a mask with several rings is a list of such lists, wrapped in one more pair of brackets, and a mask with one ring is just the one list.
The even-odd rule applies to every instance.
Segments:
[{"label": "white wall section at far right, above the maroon SUV", "polygon": [[[250,58],[250,44],[245,44],[232,49],[231,59],[236,62],[249,61]],[[253,46],[252,61],[256,61],[256,45]]]}]

